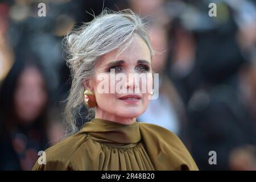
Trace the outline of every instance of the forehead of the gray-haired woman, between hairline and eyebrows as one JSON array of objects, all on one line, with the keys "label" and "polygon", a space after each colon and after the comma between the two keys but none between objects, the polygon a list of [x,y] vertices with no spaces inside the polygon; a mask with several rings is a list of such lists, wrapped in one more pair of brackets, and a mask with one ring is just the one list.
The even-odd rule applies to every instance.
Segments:
[{"label": "forehead of the gray-haired woman, between hairline and eyebrows", "polygon": [[106,53],[101,57],[99,65],[105,65],[115,60],[124,60],[128,63],[135,63],[137,60],[147,60],[151,63],[150,49],[140,36],[136,36],[133,42],[118,55],[118,49]]}]

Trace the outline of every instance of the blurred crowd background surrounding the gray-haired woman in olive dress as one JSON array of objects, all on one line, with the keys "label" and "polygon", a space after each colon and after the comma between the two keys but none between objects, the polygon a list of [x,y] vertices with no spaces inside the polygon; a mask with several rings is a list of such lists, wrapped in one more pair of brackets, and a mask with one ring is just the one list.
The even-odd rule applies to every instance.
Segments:
[{"label": "blurred crowd background surrounding the gray-haired woman in olive dress", "polygon": [[156,50],[159,98],[138,122],[177,134],[200,170],[256,170],[255,0],[0,1],[0,170],[31,170],[64,135],[62,40],[103,6],[144,17]]}]

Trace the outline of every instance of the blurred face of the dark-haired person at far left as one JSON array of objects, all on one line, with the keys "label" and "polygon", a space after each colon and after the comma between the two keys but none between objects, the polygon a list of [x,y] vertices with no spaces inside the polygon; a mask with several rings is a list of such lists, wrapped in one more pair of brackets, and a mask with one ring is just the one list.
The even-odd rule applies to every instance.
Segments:
[{"label": "blurred face of the dark-haired person at far left", "polygon": [[23,122],[32,122],[47,102],[45,82],[37,68],[28,67],[19,77],[14,93],[15,111]]}]

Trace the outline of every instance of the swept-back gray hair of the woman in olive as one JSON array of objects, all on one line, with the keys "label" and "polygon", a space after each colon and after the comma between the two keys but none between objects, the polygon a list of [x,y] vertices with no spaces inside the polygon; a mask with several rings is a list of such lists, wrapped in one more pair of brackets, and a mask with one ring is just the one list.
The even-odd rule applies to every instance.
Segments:
[{"label": "swept-back gray hair of the woman in olive", "polygon": [[[94,68],[100,57],[118,49],[121,53],[135,35],[139,35],[150,49],[151,58],[154,51],[143,20],[133,11],[110,11],[105,9],[91,22],[84,23],[80,28],[73,30],[64,38],[67,47],[67,64],[71,69],[72,85],[65,106],[64,117],[67,124],[67,134],[75,134],[78,130],[76,117],[80,115],[83,105],[82,82],[94,77]],[[94,118],[94,109],[88,108],[88,119]]]}]

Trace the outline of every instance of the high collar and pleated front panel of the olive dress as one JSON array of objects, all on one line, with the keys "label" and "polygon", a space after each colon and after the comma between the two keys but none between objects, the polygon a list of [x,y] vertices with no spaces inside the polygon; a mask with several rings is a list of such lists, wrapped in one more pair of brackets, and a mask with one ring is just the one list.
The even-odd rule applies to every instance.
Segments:
[{"label": "high collar and pleated front panel of the olive dress", "polygon": [[94,118],[81,131],[100,144],[97,170],[154,170],[137,122],[126,125]]}]

